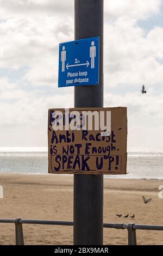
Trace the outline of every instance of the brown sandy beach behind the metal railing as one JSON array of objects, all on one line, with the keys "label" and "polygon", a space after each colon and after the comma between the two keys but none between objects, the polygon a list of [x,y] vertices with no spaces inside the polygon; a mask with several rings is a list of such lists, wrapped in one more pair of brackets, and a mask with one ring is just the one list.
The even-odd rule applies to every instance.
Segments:
[{"label": "brown sandy beach behind the metal railing", "polygon": [[[0,174],[4,198],[0,218],[73,221],[73,175]],[[104,179],[104,222],[163,225],[159,180]],[[152,197],[145,204],[142,196]],[[116,214],[135,214],[118,218]],[[72,245],[73,228],[24,224],[26,245]],[[14,224],[0,223],[0,244],[14,245]],[[162,245],[161,231],[137,231],[139,245]],[[105,245],[127,245],[127,230],[104,229]]]}]

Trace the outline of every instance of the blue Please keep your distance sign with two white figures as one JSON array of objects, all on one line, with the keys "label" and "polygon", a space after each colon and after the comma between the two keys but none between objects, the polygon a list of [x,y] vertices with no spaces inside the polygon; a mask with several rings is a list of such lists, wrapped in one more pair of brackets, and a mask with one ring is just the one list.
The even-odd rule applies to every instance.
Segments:
[{"label": "blue Please keep your distance sign with two white figures", "polygon": [[99,84],[99,37],[59,45],[58,87]]}]

